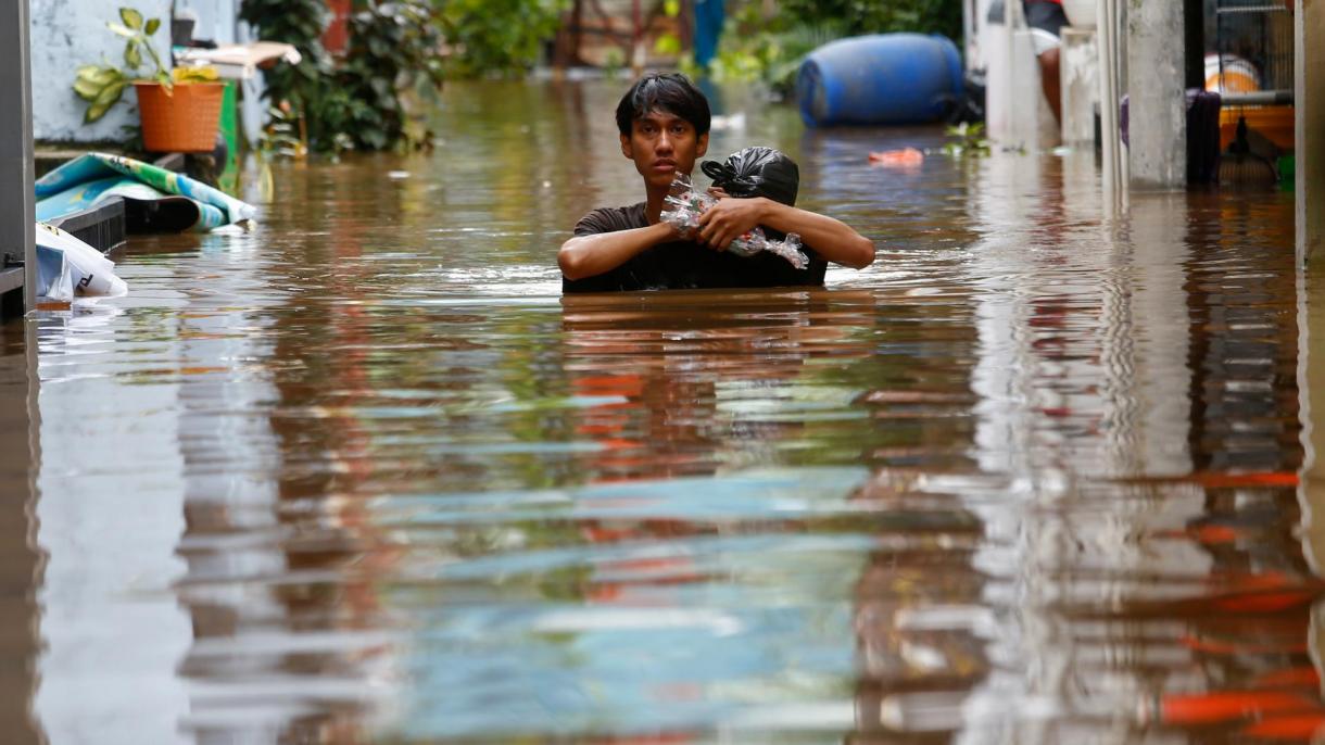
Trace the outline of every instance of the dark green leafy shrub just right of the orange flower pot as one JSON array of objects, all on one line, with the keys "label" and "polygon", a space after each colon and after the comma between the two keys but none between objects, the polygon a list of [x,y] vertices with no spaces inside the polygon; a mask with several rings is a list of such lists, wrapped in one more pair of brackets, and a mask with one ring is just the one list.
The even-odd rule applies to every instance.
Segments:
[{"label": "dark green leafy shrub just right of the orange flower pot", "polygon": [[[366,0],[350,17],[350,49],[337,61],[322,46],[331,20],[322,0],[244,0],[240,17],[261,38],[294,44],[303,60],[266,72],[268,98],[282,111],[268,137],[273,154],[388,150],[427,143],[408,99],[441,86],[441,36],[428,0]],[[298,122],[298,126],[294,125]],[[301,147],[288,142],[298,131]]]}]

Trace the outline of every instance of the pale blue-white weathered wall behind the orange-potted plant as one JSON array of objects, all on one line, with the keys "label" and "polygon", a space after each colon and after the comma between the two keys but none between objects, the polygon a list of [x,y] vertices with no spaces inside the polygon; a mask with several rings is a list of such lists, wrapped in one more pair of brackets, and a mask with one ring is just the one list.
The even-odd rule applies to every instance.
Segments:
[{"label": "pale blue-white weathered wall behind the orange-potted plant", "polygon": [[[30,0],[32,3],[32,125],[37,141],[98,142],[125,139],[121,127],[135,125],[134,106],[121,103],[95,125],[83,125],[83,101],[72,89],[80,65],[123,61],[123,41],[106,28],[118,20],[121,3],[105,0]],[[162,19],[156,50],[170,53],[170,0],[125,1],[146,17]],[[179,9],[197,13],[196,37],[236,40],[238,0],[179,0]],[[126,93],[132,102],[134,94]]]}]

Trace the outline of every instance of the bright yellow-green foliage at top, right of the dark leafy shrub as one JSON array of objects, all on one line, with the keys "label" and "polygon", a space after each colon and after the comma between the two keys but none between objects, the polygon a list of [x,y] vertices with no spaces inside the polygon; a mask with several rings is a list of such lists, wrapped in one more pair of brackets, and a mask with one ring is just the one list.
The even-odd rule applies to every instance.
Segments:
[{"label": "bright yellow-green foliage at top, right of the dark leafy shrub", "polygon": [[523,74],[556,34],[570,0],[433,0],[457,77]]}]

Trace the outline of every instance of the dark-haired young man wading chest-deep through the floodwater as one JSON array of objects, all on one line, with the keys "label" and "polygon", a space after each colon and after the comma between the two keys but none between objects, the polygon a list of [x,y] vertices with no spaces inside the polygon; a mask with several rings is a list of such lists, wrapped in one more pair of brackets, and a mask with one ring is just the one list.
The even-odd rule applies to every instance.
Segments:
[{"label": "dark-haired young man wading chest-deep through the floodwater", "polygon": [[[874,260],[874,244],[847,224],[762,196],[721,199],[700,217],[693,240],[659,221],[672,180],[689,175],[709,147],[709,102],[685,76],[640,78],[617,105],[616,126],[647,201],[595,209],[575,225],[556,255],[563,292],[822,285],[828,261],[861,269]],[[723,251],[757,225],[798,233],[808,266]]]}]

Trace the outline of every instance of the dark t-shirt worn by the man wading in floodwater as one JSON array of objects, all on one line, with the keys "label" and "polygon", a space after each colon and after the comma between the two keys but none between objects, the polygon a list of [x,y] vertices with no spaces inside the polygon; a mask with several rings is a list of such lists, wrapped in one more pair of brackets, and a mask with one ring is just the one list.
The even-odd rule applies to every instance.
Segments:
[{"label": "dark t-shirt worn by the man wading in floodwater", "polygon": [[[641,201],[629,207],[595,209],[575,224],[575,235],[595,236],[644,227],[648,227],[648,219],[644,216]],[[810,264],[804,269],[796,269],[786,258],[768,252],[742,258],[697,243],[664,243],[637,253],[611,272],[583,280],[562,277],[562,292],[779,288],[824,284],[828,262],[808,247],[802,249],[810,257]]]}]

